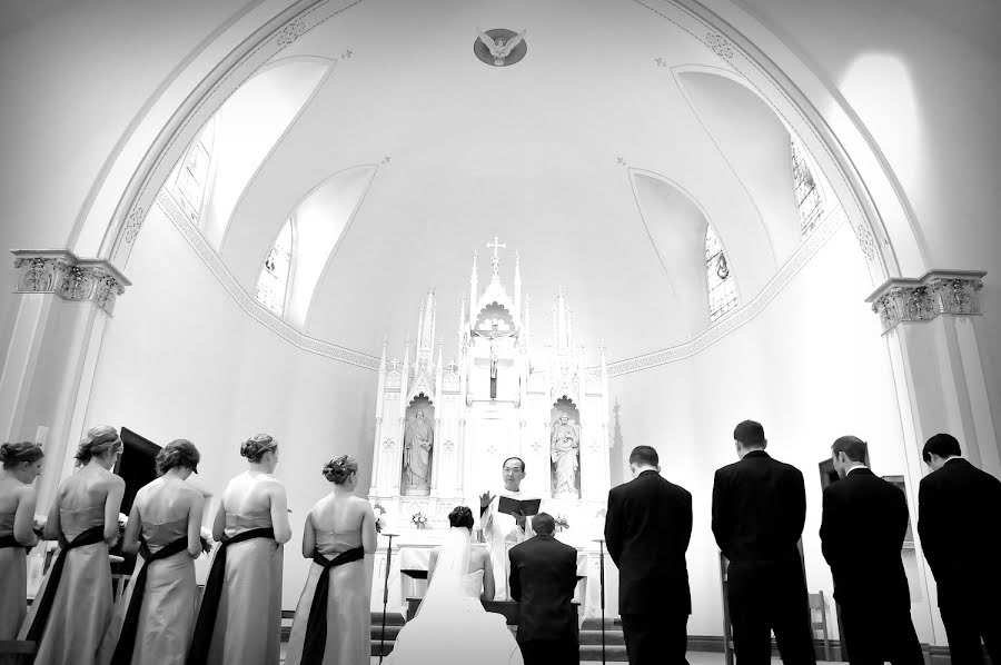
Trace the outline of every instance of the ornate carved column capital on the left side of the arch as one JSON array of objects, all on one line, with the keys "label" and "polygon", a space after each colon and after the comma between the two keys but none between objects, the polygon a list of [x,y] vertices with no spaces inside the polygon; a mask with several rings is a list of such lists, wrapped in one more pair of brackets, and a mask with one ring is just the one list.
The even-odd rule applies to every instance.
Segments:
[{"label": "ornate carved column capital on the left side of the arch", "polygon": [[105,259],[81,259],[68,249],[14,249],[16,294],[54,294],[91,301],[107,314],[132,282]]}]

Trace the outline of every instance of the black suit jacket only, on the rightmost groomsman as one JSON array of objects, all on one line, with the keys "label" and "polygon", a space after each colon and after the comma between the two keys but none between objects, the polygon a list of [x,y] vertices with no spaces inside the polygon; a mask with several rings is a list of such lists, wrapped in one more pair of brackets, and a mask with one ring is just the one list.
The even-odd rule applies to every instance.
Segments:
[{"label": "black suit jacket only, on the rightmost groomsman", "polygon": [[918,535],[939,586],[939,606],[997,603],[1001,577],[1001,480],[965,459],[950,459],[921,480]]}]

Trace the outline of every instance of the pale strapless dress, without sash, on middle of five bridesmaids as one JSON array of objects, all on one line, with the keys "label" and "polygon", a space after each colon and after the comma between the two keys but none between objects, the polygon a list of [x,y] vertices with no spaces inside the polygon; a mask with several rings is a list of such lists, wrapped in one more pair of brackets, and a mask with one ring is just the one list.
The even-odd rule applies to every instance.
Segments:
[{"label": "pale strapless dress, without sash, on middle of five bridesmaids", "polygon": [[[142,539],[150,553],[179,538],[187,539],[188,517],[153,524],[142,520]],[[187,547],[167,558],[147,564],[140,556],[132,572],[135,582],[142,566],[146,573],[146,590],[139,611],[139,624],[132,647],[132,665],[184,665],[191,643],[195,625],[195,559]],[[125,595],[115,606],[111,625],[101,642],[98,663],[110,663],[118,645],[121,626],[135,584],[130,583]]]}]

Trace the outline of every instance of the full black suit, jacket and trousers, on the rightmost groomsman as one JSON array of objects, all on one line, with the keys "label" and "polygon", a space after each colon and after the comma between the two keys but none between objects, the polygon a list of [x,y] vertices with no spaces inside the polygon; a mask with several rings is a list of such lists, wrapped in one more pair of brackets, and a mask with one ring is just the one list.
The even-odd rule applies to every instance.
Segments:
[{"label": "full black suit, jacket and trousers, on the rightmost groomsman", "polygon": [[962,458],[921,480],[918,534],[939,586],[939,609],[954,665],[1001,663],[1001,482]]}]

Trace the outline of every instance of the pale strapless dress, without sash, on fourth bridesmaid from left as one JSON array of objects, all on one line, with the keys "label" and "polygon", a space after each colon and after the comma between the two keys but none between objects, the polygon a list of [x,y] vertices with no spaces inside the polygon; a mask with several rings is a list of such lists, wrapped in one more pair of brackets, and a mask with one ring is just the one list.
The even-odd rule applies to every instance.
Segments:
[{"label": "pale strapless dress, without sash, on fourth bridesmaid from left", "polygon": [[[229,537],[270,526],[269,509],[226,514]],[[251,538],[227,548],[209,665],[276,665],[280,661],[283,552],[270,538]]]}]

